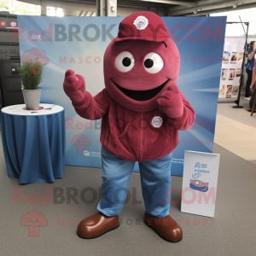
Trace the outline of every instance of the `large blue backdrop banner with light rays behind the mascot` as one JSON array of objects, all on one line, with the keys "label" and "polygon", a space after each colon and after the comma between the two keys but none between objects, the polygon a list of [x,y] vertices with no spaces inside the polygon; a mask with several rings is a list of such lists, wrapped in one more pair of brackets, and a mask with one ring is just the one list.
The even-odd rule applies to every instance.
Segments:
[{"label": "large blue backdrop banner with light rays behind the mascot", "polygon": [[[63,90],[64,73],[73,69],[82,74],[92,96],[101,91],[103,55],[123,19],[18,16],[20,61],[41,61],[45,65],[41,102],[65,108],[66,165],[101,167],[102,121],[82,119],[74,111]],[[173,151],[172,175],[182,176],[184,150],[212,153],[226,17],[162,19],[180,53],[177,85],[196,112],[194,125],[189,131],[179,132]]]}]

